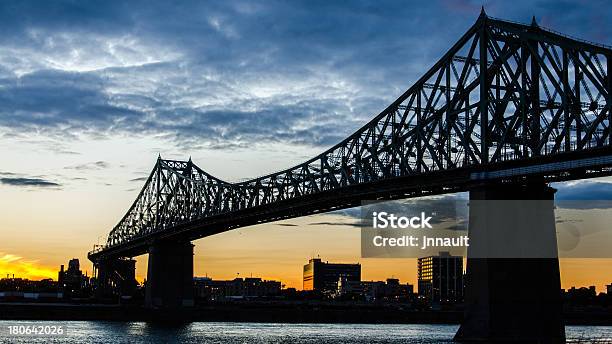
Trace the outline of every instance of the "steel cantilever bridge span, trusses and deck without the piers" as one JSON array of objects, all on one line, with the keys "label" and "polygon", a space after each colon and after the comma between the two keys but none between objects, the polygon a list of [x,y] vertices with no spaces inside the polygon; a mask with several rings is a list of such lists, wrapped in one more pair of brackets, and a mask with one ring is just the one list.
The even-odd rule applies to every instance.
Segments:
[{"label": "steel cantilever bridge span, trusses and deck without the piers", "polygon": [[89,258],[133,257],[154,242],[190,242],[365,199],[612,175],[611,70],[610,47],[483,11],[396,101],[302,164],[229,183],[191,159],[160,157]]}]

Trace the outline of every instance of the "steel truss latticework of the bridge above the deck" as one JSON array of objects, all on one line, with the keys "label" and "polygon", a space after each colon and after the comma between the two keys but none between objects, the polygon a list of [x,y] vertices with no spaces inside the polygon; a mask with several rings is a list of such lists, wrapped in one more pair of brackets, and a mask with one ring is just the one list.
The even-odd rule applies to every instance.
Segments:
[{"label": "steel truss latticework of the bridge above the deck", "polygon": [[228,183],[159,158],[102,250],[371,182],[612,147],[610,70],[610,47],[482,14],[395,102],[307,162]]}]

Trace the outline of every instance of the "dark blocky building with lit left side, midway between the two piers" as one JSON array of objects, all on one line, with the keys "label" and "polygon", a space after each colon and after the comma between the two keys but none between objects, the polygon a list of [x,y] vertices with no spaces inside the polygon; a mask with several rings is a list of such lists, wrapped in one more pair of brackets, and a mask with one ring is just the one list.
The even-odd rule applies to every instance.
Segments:
[{"label": "dark blocky building with lit left side, midway between the two piers", "polygon": [[340,277],[344,277],[346,282],[361,281],[361,264],[324,263],[313,258],[304,265],[303,289],[335,293]]}]

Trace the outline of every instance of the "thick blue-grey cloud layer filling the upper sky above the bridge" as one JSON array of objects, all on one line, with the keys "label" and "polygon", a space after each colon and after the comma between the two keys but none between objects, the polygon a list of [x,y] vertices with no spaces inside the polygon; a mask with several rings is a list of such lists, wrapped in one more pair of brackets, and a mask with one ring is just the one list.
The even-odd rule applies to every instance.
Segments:
[{"label": "thick blue-grey cloud layer filling the upper sky above the bridge", "polygon": [[[0,127],[61,138],[157,135],[190,148],[328,147],[432,66],[479,6],[3,1]],[[486,7],[611,43],[605,1]]]}]

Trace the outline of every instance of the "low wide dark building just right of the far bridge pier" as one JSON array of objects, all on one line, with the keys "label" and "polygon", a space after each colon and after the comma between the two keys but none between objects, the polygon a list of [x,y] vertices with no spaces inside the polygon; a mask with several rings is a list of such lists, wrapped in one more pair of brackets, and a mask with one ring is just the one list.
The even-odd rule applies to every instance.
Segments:
[{"label": "low wide dark building just right of the far bridge pier", "polygon": [[209,277],[195,277],[194,295],[198,299],[223,300],[244,298],[265,298],[280,295],[280,281],[265,281],[261,278],[235,278],[215,281]]}]

